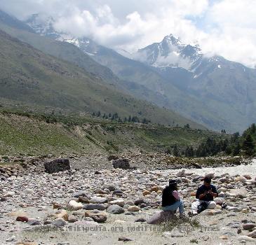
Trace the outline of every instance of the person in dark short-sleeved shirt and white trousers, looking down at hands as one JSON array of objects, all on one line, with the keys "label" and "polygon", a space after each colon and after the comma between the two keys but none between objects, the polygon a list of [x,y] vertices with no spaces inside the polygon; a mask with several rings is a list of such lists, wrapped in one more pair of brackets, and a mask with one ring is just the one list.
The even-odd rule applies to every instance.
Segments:
[{"label": "person in dark short-sleeved shirt and white trousers, looking down at hands", "polygon": [[196,191],[196,202],[191,204],[190,214],[199,214],[205,209],[215,209],[216,203],[213,201],[213,197],[217,197],[218,193],[211,181],[212,179],[207,176],[203,179],[203,185]]}]

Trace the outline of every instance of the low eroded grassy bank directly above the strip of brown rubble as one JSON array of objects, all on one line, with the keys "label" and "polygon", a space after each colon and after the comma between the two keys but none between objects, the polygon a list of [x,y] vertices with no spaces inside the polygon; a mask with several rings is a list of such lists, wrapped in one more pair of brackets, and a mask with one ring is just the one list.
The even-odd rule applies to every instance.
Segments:
[{"label": "low eroded grassy bank directly above the strip of brown rubble", "polygon": [[164,152],[174,145],[198,146],[223,134],[203,130],[114,123],[93,117],[9,113],[0,110],[0,155]]}]

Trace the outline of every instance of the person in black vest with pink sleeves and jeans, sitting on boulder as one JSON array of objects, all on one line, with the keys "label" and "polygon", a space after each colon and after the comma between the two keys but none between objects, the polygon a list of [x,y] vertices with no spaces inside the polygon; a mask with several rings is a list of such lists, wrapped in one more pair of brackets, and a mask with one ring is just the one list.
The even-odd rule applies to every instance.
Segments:
[{"label": "person in black vest with pink sleeves and jeans, sitting on boulder", "polygon": [[170,180],[169,186],[163,189],[162,209],[163,211],[173,212],[179,209],[180,217],[184,217],[184,204],[177,192],[177,182],[175,180]]}]

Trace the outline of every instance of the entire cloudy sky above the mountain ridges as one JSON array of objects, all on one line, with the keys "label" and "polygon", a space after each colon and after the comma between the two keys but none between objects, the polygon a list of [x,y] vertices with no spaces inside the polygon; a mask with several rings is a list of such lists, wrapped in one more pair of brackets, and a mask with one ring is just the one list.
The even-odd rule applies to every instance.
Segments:
[{"label": "entire cloudy sky above the mountain ridges", "polygon": [[52,15],[55,28],[134,52],[164,36],[256,67],[256,0],[1,0],[20,20]]}]

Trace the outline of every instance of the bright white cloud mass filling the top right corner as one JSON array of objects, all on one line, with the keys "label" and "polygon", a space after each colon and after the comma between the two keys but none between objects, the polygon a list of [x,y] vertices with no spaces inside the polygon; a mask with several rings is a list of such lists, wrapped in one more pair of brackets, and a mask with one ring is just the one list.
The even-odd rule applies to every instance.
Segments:
[{"label": "bright white cloud mass filling the top right corner", "polygon": [[203,51],[222,55],[248,66],[256,65],[256,1],[223,0],[208,10],[208,34]]}]

